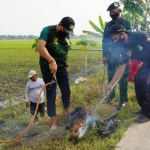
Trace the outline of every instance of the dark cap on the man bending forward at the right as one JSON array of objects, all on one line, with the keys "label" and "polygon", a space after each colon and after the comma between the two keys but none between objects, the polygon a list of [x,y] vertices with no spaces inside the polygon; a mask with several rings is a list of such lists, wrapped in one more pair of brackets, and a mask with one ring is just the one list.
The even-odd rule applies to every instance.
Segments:
[{"label": "dark cap on the man bending forward at the right", "polygon": [[120,25],[120,24],[116,24],[116,25],[113,25],[110,29],[109,29],[109,34],[112,36],[114,34],[117,34],[117,33],[120,33],[120,32],[129,32],[128,30],[126,30],[124,28],[123,25]]}]

